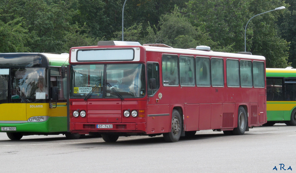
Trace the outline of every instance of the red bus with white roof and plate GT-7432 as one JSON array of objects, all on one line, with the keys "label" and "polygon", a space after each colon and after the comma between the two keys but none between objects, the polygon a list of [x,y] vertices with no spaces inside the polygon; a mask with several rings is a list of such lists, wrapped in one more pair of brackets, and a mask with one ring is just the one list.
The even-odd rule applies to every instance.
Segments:
[{"label": "red bus with white roof and plate GT-7432", "polygon": [[198,130],[242,135],[267,122],[263,56],[100,41],[71,48],[69,64],[71,133],[176,142]]}]

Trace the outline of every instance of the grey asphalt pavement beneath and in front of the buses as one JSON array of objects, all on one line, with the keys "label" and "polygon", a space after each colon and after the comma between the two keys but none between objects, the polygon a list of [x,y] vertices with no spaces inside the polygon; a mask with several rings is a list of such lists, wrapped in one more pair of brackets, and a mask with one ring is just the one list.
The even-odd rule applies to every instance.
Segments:
[{"label": "grey asphalt pavement beneath and in front of the buses", "polygon": [[88,135],[11,141],[0,133],[0,172],[296,172],[295,141],[296,127],[284,124],[256,127],[242,136],[203,130],[176,143],[162,136],[106,143]]}]

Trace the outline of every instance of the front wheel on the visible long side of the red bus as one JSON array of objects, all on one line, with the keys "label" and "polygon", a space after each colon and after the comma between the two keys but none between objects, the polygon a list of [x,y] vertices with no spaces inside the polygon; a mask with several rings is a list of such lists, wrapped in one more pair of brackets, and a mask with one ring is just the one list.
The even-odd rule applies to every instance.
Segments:
[{"label": "front wheel on the visible long side of the red bus", "polygon": [[169,133],[163,133],[163,138],[166,142],[177,142],[181,136],[182,120],[180,113],[177,110],[172,112],[172,127]]}]

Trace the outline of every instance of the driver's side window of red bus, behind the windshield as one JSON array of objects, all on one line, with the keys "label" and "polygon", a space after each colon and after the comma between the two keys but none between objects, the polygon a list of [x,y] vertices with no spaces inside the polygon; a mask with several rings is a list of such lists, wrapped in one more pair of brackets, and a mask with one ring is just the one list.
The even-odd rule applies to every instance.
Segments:
[{"label": "driver's side window of red bus, behind the windshield", "polygon": [[[148,79],[148,95],[154,95],[155,92],[159,89],[158,63],[147,63],[147,79]],[[155,84],[152,84],[152,82],[154,81],[155,81]]]}]

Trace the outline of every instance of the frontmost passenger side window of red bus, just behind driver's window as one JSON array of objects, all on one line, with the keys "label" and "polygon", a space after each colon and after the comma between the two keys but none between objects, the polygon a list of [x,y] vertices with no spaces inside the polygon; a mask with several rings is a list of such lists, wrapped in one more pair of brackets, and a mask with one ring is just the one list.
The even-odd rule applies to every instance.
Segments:
[{"label": "frontmost passenger side window of red bus, just behind driver's window", "polygon": [[178,55],[162,57],[163,85],[179,86]]}]

